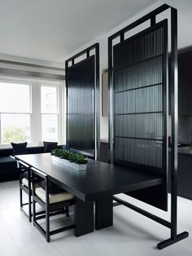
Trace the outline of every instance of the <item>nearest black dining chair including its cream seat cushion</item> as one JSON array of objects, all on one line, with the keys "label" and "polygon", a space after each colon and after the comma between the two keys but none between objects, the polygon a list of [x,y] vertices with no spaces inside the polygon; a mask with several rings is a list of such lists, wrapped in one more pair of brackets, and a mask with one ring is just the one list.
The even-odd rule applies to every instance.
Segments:
[{"label": "nearest black dining chair including its cream seat cushion", "polygon": [[[50,231],[50,217],[56,214],[66,214],[66,216],[69,216],[68,206],[75,204],[75,198],[72,194],[63,190],[63,188],[59,188],[59,186],[51,183],[49,176],[40,170],[31,168],[31,174],[33,184],[33,225],[46,236],[46,241],[49,242],[50,236],[74,227],[74,224],[71,224],[67,227],[60,227]],[[37,177],[43,179],[39,183],[40,186],[38,188],[34,186]],[[45,214],[38,214],[36,204],[41,205]],[[45,229],[37,222],[41,218],[46,218]]]}]

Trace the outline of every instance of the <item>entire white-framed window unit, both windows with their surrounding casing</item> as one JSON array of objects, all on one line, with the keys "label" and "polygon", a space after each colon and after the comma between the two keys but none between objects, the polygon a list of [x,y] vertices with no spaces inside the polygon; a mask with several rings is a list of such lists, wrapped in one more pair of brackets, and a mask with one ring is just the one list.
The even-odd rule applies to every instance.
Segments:
[{"label": "entire white-framed window unit, both windows with their surrounding casing", "polygon": [[63,92],[62,82],[0,80],[0,146],[63,143]]}]

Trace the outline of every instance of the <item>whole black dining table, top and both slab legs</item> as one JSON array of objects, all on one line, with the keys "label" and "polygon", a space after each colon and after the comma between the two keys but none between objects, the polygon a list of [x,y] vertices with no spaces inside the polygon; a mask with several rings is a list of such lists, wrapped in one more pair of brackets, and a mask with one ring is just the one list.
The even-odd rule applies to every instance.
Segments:
[{"label": "whole black dining table, top and both slab legs", "polygon": [[[18,161],[41,170],[50,181],[72,193],[75,203],[75,236],[113,224],[112,196],[163,183],[157,175],[89,159],[86,170],[75,170],[53,161],[50,153],[18,155]],[[95,214],[94,214],[95,203]]]}]

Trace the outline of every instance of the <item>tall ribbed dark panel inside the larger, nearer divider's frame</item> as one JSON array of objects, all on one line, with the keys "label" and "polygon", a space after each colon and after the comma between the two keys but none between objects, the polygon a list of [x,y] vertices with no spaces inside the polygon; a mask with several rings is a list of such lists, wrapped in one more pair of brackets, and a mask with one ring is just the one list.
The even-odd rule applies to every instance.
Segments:
[{"label": "tall ribbed dark panel inside the larger, nearer divider's frame", "polygon": [[[160,174],[131,192],[167,210],[167,20],[113,46],[114,163]],[[161,198],[157,198],[157,196]]]}]

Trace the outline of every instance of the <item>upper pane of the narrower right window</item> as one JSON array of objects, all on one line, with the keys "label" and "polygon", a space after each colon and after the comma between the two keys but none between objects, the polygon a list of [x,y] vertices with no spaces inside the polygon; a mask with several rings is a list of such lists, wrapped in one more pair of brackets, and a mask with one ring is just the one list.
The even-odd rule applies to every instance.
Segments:
[{"label": "upper pane of the narrower right window", "polygon": [[57,112],[57,87],[41,86],[41,113]]}]

